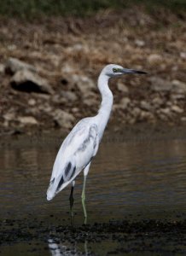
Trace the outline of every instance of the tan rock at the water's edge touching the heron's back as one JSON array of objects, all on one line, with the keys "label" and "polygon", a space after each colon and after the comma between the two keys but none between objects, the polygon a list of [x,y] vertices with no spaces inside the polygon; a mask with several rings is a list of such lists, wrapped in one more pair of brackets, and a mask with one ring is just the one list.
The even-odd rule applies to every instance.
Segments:
[{"label": "tan rock at the water's edge touching the heron's back", "polygon": [[70,129],[72,128],[74,122],[74,116],[71,113],[67,113],[60,108],[55,109],[52,113],[55,124],[60,126],[61,128]]}]

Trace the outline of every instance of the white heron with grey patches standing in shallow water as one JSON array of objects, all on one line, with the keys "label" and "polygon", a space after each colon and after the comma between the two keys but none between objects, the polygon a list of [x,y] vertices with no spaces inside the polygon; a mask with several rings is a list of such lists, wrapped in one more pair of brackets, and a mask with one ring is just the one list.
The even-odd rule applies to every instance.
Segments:
[{"label": "white heron with grey patches standing in shallow water", "polygon": [[49,188],[47,190],[48,201],[52,200],[69,183],[72,183],[69,197],[72,210],[75,178],[79,172],[84,170],[84,184],[81,198],[84,218],[87,218],[85,207],[86,179],[91,162],[96,156],[99,144],[101,143],[103,132],[108,124],[113,106],[113,93],[108,87],[108,80],[124,74],[136,73],[145,74],[143,71],[128,69],[115,64],[109,64],[102,69],[97,82],[102,96],[101,107],[96,116],[87,117],[78,121],[61,144],[61,148],[55,158]]}]

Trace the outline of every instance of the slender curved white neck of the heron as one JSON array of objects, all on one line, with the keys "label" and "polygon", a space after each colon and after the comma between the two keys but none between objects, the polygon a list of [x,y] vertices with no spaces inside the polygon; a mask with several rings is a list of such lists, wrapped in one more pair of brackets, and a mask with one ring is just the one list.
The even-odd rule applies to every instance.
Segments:
[{"label": "slender curved white neck of the heron", "polygon": [[113,93],[108,87],[108,79],[109,77],[102,73],[98,78],[98,89],[102,95],[102,104],[97,116],[100,120],[102,120],[102,122],[100,122],[102,132],[105,130],[105,127],[108,124],[108,119],[113,106]]}]

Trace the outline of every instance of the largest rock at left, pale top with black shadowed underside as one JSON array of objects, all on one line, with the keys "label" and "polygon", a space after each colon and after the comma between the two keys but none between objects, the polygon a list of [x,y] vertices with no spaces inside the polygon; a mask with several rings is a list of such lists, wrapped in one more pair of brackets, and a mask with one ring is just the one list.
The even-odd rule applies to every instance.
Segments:
[{"label": "largest rock at left, pale top with black shadowed underside", "polygon": [[53,94],[51,86],[45,79],[26,69],[15,73],[10,81],[10,84],[15,90]]}]

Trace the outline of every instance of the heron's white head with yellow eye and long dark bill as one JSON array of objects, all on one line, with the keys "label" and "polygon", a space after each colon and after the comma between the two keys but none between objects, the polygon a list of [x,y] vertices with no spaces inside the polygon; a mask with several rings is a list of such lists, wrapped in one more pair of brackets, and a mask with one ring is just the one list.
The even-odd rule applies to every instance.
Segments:
[{"label": "heron's white head with yellow eye and long dark bill", "polygon": [[146,73],[146,72],[135,70],[135,69],[124,68],[122,66],[115,65],[115,64],[107,65],[106,67],[103,68],[102,72],[106,74],[109,78],[119,77],[123,74]]}]

